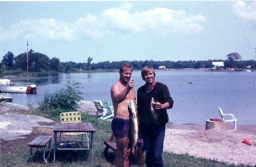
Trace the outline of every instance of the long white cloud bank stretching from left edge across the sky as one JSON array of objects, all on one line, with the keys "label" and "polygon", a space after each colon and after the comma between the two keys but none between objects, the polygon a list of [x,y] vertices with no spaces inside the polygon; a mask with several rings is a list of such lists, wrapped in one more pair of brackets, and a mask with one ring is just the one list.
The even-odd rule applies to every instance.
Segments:
[{"label": "long white cloud bank stretching from left edge across the sky", "polygon": [[130,12],[133,7],[129,2],[120,7],[111,8],[98,15],[87,14],[75,22],[50,19],[20,20],[10,28],[0,28],[0,40],[14,37],[35,40],[73,41],[80,37],[100,38],[115,32],[147,32],[159,35],[172,33],[195,34],[203,30],[202,22],[206,18],[201,14],[186,16],[184,10],[155,8],[148,11]]}]

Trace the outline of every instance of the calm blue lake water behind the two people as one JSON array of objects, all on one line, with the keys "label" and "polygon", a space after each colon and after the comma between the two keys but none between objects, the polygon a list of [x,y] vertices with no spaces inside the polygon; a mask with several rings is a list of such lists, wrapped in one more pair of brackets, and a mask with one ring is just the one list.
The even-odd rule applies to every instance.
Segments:
[{"label": "calm blue lake water behind the two people", "polygon": [[[135,91],[144,84],[141,71],[132,75]],[[67,81],[82,84],[80,91],[85,101],[110,98],[110,87],[119,80],[119,73],[46,74],[38,77],[11,78],[16,85],[36,83],[38,94],[11,94],[13,103],[35,105],[45,91],[55,92]],[[220,118],[218,107],[224,114],[232,113],[237,124],[256,124],[256,73],[205,72],[204,70],[156,70],[156,81],[165,83],[174,107],[168,110],[171,123],[205,124],[205,120]],[[188,83],[192,82],[192,83]]]}]

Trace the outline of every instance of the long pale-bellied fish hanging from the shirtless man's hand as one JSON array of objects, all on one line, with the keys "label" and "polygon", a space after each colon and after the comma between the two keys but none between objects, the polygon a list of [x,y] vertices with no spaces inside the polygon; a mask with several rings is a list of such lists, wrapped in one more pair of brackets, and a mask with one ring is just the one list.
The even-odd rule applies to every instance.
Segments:
[{"label": "long pale-bellied fish hanging from the shirtless man's hand", "polygon": [[130,130],[129,130],[129,144],[131,153],[134,153],[134,147],[137,143],[138,139],[138,120],[136,115],[136,106],[131,100],[131,102],[127,102],[128,111],[129,111],[129,122],[130,122]]}]

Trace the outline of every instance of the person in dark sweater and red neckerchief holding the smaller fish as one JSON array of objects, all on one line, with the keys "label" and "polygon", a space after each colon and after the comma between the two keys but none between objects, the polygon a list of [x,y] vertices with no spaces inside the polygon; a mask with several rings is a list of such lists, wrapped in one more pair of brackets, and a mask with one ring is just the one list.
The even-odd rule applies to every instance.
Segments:
[{"label": "person in dark sweater and red neckerchief holding the smaller fish", "polygon": [[164,135],[169,121],[167,109],[172,108],[174,101],[168,87],[155,81],[155,70],[151,66],[144,66],[141,76],[146,83],[137,91],[137,110],[139,132],[146,150],[146,165],[163,166]]}]

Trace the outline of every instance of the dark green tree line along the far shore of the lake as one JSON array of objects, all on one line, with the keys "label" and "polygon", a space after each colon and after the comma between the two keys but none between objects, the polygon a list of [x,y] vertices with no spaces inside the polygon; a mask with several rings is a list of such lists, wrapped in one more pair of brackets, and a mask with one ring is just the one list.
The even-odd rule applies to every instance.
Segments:
[{"label": "dark green tree line along the far shore of the lake", "polygon": [[[27,59],[28,57],[28,59]],[[43,53],[34,52],[32,49],[28,52],[20,53],[18,56],[14,56],[12,52],[7,52],[1,60],[1,75],[5,74],[19,74],[26,71],[29,72],[59,72],[59,73],[71,73],[79,70],[98,70],[98,69],[119,69],[123,63],[129,63],[133,66],[133,69],[141,69],[145,65],[150,65],[157,69],[158,66],[166,66],[166,68],[182,69],[182,68],[212,68],[212,62],[222,61],[225,68],[246,69],[246,66],[251,66],[251,69],[255,69],[255,60],[241,60],[241,56],[238,53],[230,53],[226,56],[226,60],[189,60],[189,61],[103,61],[98,63],[92,63],[93,58],[88,57],[87,62],[73,62],[66,61],[60,62],[59,58],[53,57],[49,59],[47,55]],[[27,61],[28,60],[28,61]]]}]

